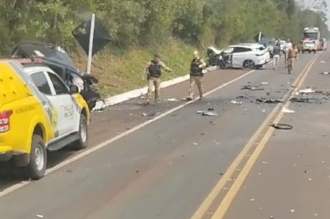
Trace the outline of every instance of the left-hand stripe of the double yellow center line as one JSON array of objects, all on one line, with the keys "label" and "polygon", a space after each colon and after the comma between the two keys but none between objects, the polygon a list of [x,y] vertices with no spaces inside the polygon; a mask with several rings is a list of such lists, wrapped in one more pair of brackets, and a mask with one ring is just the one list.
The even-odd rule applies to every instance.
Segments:
[{"label": "left-hand stripe of the double yellow center line", "polygon": [[[308,62],[308,64],[304,67],[302,72],[305,72],[305,70],[308,69],[308,67],[312,64],[312,62],[314,62],[313,60],[316,60],[316,58],[315,57],[312,58]],[[298,81],[300,81],[301,77],[303,77],[303,74],[300,74],[298,76],[298,78],[296,79],[296,81],[294,81],[294,84],[292,84],[292,86],[296,86],[296,84],[298,84]],[[289,93],[290,93],[290,91],[286,95],[284,95],[284,98],[286,98],[289,95]],[[219,182],[214,186],[213,190],[211,192],[209,192],[208,196],[205,198],[205,200],[199,206],[197,211],[195,211],[195,213],[193,214],[191,219],[201,219],[205,216],[205,213],[209,209],[209,206],[211,206],[213,204],[216,197],[219,195],[219,193],[224,188],[226,183],[228,183],[228,179],[231,178],[231,176],[235,172],[235,169],[238,167],[238,165],[240,165],[242,160],[245,158],[245,155],[252,148],[252,146],[254,145],[254,142],[256,142],[256,140],[259,138],[259,136],[265,130],[265,128],[268,126],[268,124],[270,124],[271,119],[273,119],[273,117],[278,112],[278,110],[280,110],[280,107],[281,107],[281,104],[277,104],[275,106],[275,108],[272,110],[272,112],[270,112],[268,117],[263,121],[263,124],[261,124],[261,126],[258,128],[256,133],[254,133],[254,135],[252,135],[252,138],[250,138],[250,140],[247,142],[245,147],[242,149],[240,154],[238,154],[238,157],[236,157],[235,160],[233,161],[233,163],[231,164],[231,166],[228,167],[226,173],[224,173],[224,175],[220,178]]]}]

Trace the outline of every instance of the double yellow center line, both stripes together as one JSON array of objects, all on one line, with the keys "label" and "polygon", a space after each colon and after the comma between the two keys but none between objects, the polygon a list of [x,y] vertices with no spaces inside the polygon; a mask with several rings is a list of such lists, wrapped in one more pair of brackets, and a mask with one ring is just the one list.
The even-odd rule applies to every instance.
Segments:
[{"label": "double yellow center line, both stripes together", "polygon": [[[289,99],[294,96],[296,91],[301,87],[303,84],[303,81],[305,81],[305,78],[308,76],[308,73],[310,72],[310,68],[315,63],[319,55],[315,55],[305,66],[301,74],[297,77],[296,81],[294,81],[294,84],[292,84],[292,87],[294,89],[291,89],[288,91],[284,97],[283,100],[285,101],[284,107],[289,107],[290,102]],[[219,194],[224,189],[224,186],[228,183],[228,180],[231,179],[231,177],[234,175],[236,168],[242,163],[243,159],[245,159],[246,154],[252,150],[252,147],[256,145],[254,148],[254,151],[251,153],[251,157],[247,160],[247,162],[244,164],[244,167],[242,168],[242,171],[240,171],[240,174],[236,178],[233,185],[231,185],[231,188],[228,190],[226,195],[224,196],[224,199],[222,199],[219,206],[216,208],[216,211],[212,215],[212,219],[222,219],[224,218],[224,215],[228,211],[228,208],[230,207],[233,199],[235,198],[236,194],[240,190],[240,187],[245,181],[245,178],[251,171],[254,163],[256,162],[256,159],[258,159],[259,155],[263,151],[263,148],[266,146],[266,143],[271,138],[274,128],[270,128],[270,121],[272,123],[278,123],[280,119],[283,116],[283,112],[281,111],[282,104],[277,104],[275,108],[270,112],[268,117],[263,121],[263,124],[258,128],[256,133],[250,138],[249,142],[245,145],[243,150],[238,154],[238,157],[235,158],[231,166],[227,169],[226,173],[220,178],[219,182],[215,185],[213,190],[209,193],[209,195],[206,197],[206,199],[202,202],[200,207],[195,211],[191,219],[202,219],[205,217],[205,214],[207,211],[209,211],[209,208],[212,204],[214,204],[214,201],[217,197],[219,197]],[[275,118],[275,119],[274,119]],[[263,137],[261,138],[261,134],[264,133]],[[257,142],[257,140],[261,140]],[[242,164],[241,164],[242,165]]]}]

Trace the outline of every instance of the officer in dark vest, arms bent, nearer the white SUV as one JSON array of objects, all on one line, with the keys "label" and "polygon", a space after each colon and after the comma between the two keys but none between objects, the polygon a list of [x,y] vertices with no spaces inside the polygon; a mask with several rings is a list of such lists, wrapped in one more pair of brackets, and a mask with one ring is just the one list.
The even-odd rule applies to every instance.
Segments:
[{"label": "officer in dark vest, arms bent, nearer the white SUV", "polygon": [[198,51],[193,52],[193,60],[190,67],[190,84],[187,100],[193,100],[193,86],[196,84],[200,93],[200,100],[203,98],[202,77],[206,71],[206,62],[200,58]]}]

